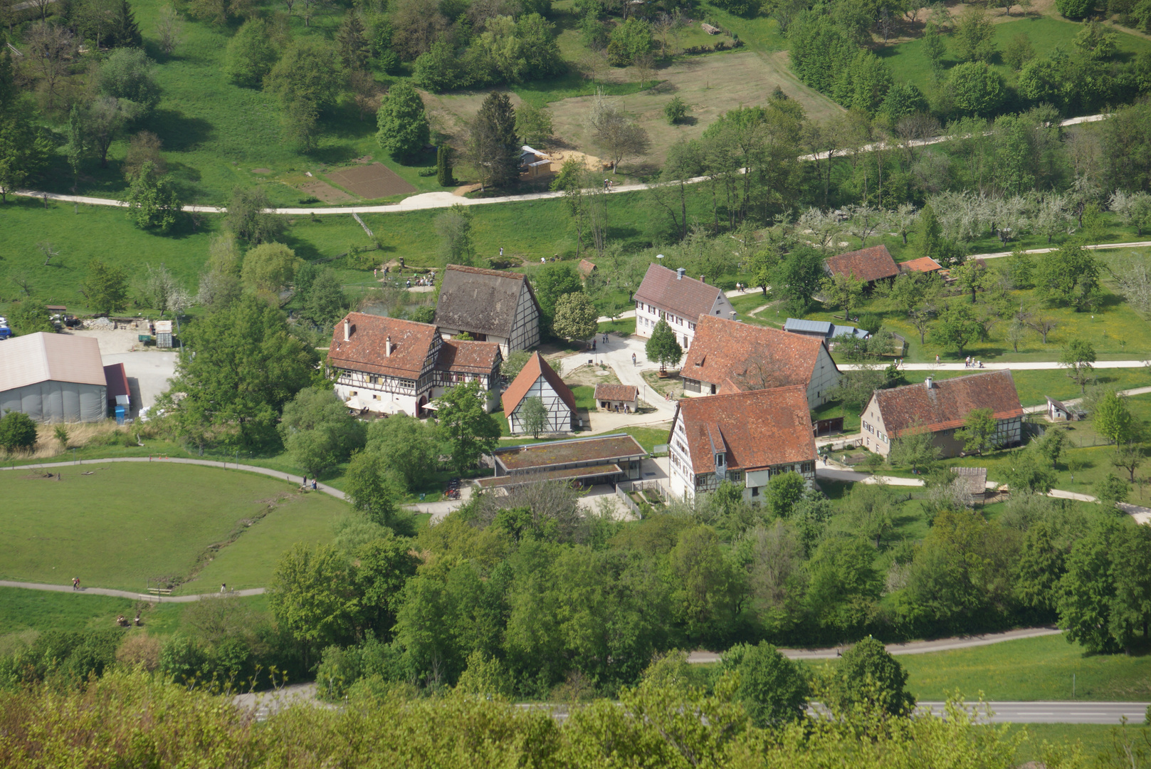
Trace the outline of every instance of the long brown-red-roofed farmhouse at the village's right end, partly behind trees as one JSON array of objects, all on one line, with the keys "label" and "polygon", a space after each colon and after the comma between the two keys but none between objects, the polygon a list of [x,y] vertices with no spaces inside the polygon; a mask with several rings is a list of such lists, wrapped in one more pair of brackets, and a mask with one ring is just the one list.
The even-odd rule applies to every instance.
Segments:
[{"label": "long brown-red-roofed farmhouse at the village's right end, partly behind trees", "polygon": [[887,456],[891,442],[900,435],[929,432],[940,456],[959,456],[963,441],[955,437],[955,431],[976,409],[991,410],[997,421],[996,446],[1016,446],[1022,440],[1023,408],[1015,380],[1009,371],[989,371],[876,390],[860,420],[863,446]]}]

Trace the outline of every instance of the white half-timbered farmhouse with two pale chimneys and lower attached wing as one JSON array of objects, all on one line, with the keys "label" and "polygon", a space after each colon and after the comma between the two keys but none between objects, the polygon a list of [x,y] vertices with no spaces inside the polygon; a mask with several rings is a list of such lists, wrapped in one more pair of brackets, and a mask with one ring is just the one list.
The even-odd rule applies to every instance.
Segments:
[{"label": "white half-timbered farmhouse with two pale chimneys and lower attached wing", "polygon": [[430,401],[473,380],[493,411],[502,361],[495,342],[445,341],[430,323],[361,312],[336,323],[328,350],[336,395],[350,409],[411,417],[426,417]]}]

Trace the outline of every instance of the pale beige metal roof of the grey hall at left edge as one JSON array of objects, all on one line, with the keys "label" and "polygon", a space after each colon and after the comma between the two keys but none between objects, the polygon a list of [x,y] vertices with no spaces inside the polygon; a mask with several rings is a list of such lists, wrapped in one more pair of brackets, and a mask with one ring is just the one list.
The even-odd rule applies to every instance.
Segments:
[{"label": "pale beige metal roof of the grey hall at left edge", "polygon": [[106,386],[100,343],[91,336],[37,332],[0,344],[0,393],[49,381]]}]

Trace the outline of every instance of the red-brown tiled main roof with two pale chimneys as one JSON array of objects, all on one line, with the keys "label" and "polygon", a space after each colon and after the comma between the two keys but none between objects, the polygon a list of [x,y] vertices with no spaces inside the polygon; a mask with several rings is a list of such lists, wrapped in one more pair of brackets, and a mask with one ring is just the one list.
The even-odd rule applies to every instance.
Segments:
[{"label": "red-brown tiled main roof with two pale chimneys", "polygon": [[[439,336],[435,326],[402,318],[350,312],[344,315],[344,320],[351,325],[350,338],[344,341],[344,321],[336,323],[331,332],[328,364],[349,371],[419,379]],[[390,356],[387,349],[389,336]]]}]

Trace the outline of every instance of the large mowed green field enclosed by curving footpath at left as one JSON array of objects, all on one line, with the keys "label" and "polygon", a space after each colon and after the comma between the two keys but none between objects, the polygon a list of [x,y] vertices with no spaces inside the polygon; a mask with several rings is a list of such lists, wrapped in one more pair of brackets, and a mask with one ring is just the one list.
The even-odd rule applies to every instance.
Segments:
[{"label": "large mowed green field enclosed by curving footpath at left", "polygon": [[329,540],[331,521],[348,510],[326,494],[214,467],[109,463],[62,473],[59,481],[39,471],[0,473],[3,579],[79,577],[89,587],[143,591],[150,580],[183,583],[214,557],[220,563],[208,562],[181,592],[265,586],[283,550]]}]

